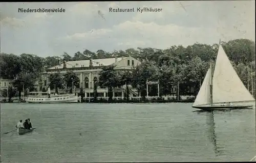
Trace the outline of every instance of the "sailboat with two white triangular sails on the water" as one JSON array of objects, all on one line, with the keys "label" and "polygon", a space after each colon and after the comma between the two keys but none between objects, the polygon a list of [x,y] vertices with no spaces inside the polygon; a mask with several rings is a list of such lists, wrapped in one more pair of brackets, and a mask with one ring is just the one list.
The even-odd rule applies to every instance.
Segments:
[{"label": "sailboat with two white triangular sails on the water", "polygon": [[252,107],[255,99],[244,86],[219,45],[214,73],[212,62],[192,107],[204,110],[239,109]]}]

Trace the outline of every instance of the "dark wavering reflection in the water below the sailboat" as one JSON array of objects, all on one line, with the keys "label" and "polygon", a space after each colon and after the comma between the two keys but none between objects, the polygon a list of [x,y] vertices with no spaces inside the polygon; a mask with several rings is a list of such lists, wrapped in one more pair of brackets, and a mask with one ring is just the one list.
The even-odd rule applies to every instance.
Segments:
[{"label": "dark wavering reflection in the water below the sailboat", "polygon": [[220,147],[220,145],[217,143],[217,134],[215,133],[216,127],[215,127],[215,121],[214,121],[214,111],[199,110],[197,111],[197,113],[201,115],[206,115],[206,124],[207,124],[207,131],[208,131],[206,132],[206,134],[208,133],[207,137],[210,143],[214,145],[214,152],[216,156],[220,156],[222,153],[224,153],[224,151],[221,150],[223,147]]}]

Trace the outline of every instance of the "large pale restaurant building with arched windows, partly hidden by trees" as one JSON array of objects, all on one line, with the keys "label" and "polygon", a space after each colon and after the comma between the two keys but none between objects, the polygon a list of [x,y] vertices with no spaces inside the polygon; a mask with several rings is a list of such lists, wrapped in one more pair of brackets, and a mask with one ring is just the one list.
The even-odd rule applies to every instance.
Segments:
[{"label": "large pale restaurant building with arched windows, partly hidden by trees", "polygon": [[[68,71],[73,71],[77,74],[80,82],[76,85],[75,92],[80,92],[80,88],[83,88],[85,92],[85,97],[93,97],[94,83],[98,81],[99,73],[103,66],[116,65],[116,69],[125,70],[131,69],[133,66],[140,64],[138,59],[131,56],[120,57],[120,58],[106,58],[106,59],[91,59],[91,60],[80,60],[80,61],[68,61],[63,62],[59,65],[47,68],[44,73],[41,73],[41,80],[39,82],[39,87],[42,89],[48,88],[49,85],[49,75],[52,73],[59,72],[60,74],[65,74]],[[55,91],[55,90],[52,90]],[[59,89],[59,92],[62,90]],[[101,86],[97,87],[98,97],[108,97],[108,88],[103,88]],[[124,97],[124,88],[114,88],[114,97]],[[131,96],[137,96],[136,89],[131,90]]]}]

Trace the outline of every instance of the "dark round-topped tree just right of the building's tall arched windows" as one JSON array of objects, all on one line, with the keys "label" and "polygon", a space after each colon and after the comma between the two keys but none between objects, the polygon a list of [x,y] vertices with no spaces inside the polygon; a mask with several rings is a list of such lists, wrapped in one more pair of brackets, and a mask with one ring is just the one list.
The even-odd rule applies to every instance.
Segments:
[{"label": "dark round-topped tree just right of the building's tall arched windows", "polygon": [[118,84],[118,75],[115,70],[115,65],[104,66],[99,73],[98,84],[103,87],[108,87],[109,100],[113,98],[113,88]]}]

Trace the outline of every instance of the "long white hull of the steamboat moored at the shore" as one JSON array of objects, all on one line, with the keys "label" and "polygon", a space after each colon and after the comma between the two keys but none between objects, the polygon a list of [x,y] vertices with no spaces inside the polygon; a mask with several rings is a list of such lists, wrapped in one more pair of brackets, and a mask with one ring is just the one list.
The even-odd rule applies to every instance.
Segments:
[{"label": "long white hull of the steamboat moored at the shore", "polygon": [[28,103],[77,103],[78,97],[77,96],[60,96],[60,97],[29,97],[27,98],[26,102]]}]

